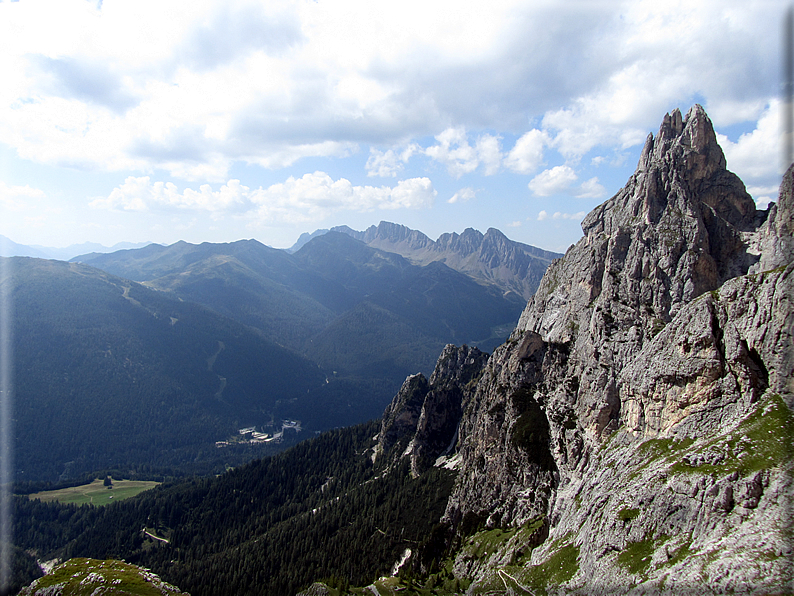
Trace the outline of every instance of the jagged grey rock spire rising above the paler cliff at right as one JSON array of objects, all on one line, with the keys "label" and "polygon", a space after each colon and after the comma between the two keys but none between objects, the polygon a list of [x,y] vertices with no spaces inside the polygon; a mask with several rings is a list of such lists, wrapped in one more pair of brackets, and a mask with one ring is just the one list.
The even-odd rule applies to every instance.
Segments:
[{"label": "jagged grey rock spire rising above the paler cliff at right", "polygon": [[625,329],[631,353],[684,303],[747,273],[758,256],[743,234],[757,224],[703,108],[676,110],[626,185],[584,218],[585,237],[549,268],[518,330],[569,341],[590,329],[595,345]]}]

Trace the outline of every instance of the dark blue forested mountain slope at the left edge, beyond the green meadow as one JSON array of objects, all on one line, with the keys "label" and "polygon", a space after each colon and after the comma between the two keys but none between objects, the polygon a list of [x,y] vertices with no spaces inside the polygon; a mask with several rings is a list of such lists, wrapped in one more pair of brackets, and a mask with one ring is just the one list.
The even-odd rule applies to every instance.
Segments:
[{"label": "dark blue forested mountain slope at the left edge, beyond the green meadow", "polygon": [[215,441],[326,391],[314,363],[196,304],[85,265],[9,265],[20,480],[234,459]]}]

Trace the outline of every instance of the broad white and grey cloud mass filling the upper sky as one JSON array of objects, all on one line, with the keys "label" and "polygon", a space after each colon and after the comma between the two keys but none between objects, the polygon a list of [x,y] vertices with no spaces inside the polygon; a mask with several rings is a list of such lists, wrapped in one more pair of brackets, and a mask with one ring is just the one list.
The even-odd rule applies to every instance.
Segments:
[{"label": "broad white and grey cloud mass filling the upper sky", "polygon": [[[571,161],[634,146],[694,98],[718,124],[754,120],[777,92],[770,23],[782,8],[40,0],[3,11],[0,138],[20,155],[220,181],[235,162],[392,147],[439,123],[428,155],[461,176],[534,173],[544,148]],[[505,159],[498,132],[455,136],[528,119],[540,128]],[[368,172],[394,177],[401,161],[385,153]]]}]

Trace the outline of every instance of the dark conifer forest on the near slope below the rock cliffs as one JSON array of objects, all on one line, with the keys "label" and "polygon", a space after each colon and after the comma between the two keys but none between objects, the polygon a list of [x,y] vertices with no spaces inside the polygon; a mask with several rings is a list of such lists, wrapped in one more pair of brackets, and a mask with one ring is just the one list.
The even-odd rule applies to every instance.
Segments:
[{"label": "dark conifer forest on the near slope below the rock cliffs", "polygon": [[42,559],[122,558],[193,596],[294,594],[316,578],[366,583],[427,543],[453,480],[444,469],[412,478],[405,464],[373,464],[377,432],[375,423],[332,431],[103,508],[18,497],[14,540]]}]

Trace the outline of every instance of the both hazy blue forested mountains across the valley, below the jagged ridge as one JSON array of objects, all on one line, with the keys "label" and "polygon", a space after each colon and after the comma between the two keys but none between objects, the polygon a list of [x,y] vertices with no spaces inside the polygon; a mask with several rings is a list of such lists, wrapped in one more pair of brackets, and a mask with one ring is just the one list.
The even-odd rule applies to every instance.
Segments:
[{"label": "both hazy blue forested mountains across the valley, below the jagged ridge", "polygon": [[12,270],[18,469],[32,480],[144,462],[206,472],[238,428],[375,418],[445,345],[502,343],[526,304],[336,231],[292,254],[177,242]]}]

